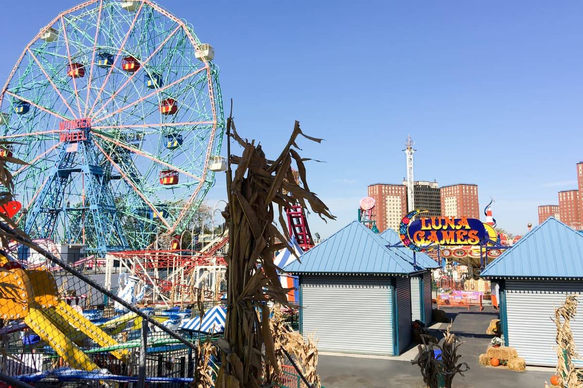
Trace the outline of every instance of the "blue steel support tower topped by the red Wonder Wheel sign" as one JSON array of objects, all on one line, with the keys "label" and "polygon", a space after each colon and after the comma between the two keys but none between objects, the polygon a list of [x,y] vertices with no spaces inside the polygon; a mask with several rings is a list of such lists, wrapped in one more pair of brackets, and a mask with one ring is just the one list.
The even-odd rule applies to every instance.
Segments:
[{"label": "blue steel support tower topped by the red Wonder Wheel sign", "polygon": [[[90,120],[73,121],[74,129],[61,131],[57,163],[29,211],[24,231],[33,238],[64,236],[55,242],[85,243],[86,252],[102,257],[108,251],[128,249],[110,174],[99,165],[93,145]],[[78,193],[76,187],[82,191]]]}]

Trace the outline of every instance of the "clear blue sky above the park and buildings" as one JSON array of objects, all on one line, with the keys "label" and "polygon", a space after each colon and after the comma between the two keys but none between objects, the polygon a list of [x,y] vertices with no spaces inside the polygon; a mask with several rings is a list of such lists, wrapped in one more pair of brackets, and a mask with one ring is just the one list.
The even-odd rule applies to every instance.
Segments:
[{"label": "clear blue sky above the park and buildings", "polygon": [[[0,79],[24,45],[76,0],[3,2]],[[241,134],[275,154],[294,120],[307,134],[311,188],[338,216],[311,218],[323,237],[356,218],[375,182],[405,175],[479,185],[513,233],[539,204],[575,188],[583,159],[583,3],[580,1],[159,3],[216,50],[225,106]],[[237,151],[237,149],[235,149]],[[224,197],[219,177],[208,196]]]}]

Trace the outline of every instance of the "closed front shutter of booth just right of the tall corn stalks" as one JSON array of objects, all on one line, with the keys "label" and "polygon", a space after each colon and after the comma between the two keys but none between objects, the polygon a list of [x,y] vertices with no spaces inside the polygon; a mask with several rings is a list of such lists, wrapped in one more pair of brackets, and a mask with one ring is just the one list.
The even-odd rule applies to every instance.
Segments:
[{"label": "closed front shutter of booth just right of the tall corn stalks", "polygon": [[302,332],[316,332],[319,351],[393,354],[390,277],[303,276],[301,283]]}]

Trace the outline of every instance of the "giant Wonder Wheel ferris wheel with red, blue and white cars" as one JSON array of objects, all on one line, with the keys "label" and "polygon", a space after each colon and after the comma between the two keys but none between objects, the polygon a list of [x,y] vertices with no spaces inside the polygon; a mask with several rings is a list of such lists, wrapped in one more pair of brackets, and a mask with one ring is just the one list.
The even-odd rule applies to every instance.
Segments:
[{"label": "giant Wonder Wheel ferris wheel with red, blue and white cars", "polygon": [[28,163],[11,165],[25,232],[96,254],[180,234],[224,170],[213,57],[150,0],[89,0],[43,27],[0,94],[0,157]]}]

